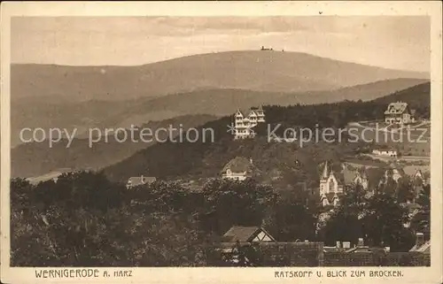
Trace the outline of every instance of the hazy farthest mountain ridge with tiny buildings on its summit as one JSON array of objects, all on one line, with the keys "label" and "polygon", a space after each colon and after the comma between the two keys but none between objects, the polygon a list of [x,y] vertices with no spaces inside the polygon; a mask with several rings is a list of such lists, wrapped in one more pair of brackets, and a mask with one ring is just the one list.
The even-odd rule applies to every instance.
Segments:
[{"label": "hazy farthest mountain ridge with tiny buildings on its summit", "polygon": [[12,100],[127,100],[214,88],[307,92],[428,73],[390,70],[288,51],[229,51],[139,66],[11,65]]}]

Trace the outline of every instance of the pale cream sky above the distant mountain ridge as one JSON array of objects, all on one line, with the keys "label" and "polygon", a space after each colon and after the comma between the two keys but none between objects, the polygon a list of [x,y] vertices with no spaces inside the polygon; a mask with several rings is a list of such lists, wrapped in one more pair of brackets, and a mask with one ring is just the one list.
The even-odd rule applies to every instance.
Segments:
[{"label": "pale cream sky above the distant mountain ridge", "polygon": [[430,72],[424,16],[17,17],[11,41],[12,63],[144,65],[266,46]]}]

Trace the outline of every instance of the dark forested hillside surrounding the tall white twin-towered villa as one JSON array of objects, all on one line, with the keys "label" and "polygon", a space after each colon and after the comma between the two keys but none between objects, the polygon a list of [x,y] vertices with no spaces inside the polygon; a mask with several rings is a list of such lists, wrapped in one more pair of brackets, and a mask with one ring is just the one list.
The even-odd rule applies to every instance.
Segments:
[{"label": "dark forested hillside surrounding the tall white twin-towered villa", "polygon": [[[417,89],[424,89],[424,93],[416,93]],[[280,127],[275,132],[282,134],[287,127],[308,127],[311,129],[323,127],[346,127],[349,122],[371,119],[383,119],[386,104],[402,100],[413,104],[417,114],[429,116],[429,105],[418,104],[416,96],[423,96],[426,102],[426,84],[417,88],[409,88],[401,94],[396,93],[383,99],[370,102],[345,101],[337,104],[291,105],[291,106],[264,106],[267,123],[257,127],[258,138],[251,141],[233,141],[227,132],[232,123],[232,117],[223,117],[210,121],[199,127],[214,129],[214,142],[210,141],[210,134],[206,142],[201,137],[198,142],[165,142],[158,143],[146,150],[140,150],[116,165],[105,168],[105,174],[112,180],[125,181],[130,176],[152,175],[159,178],[183,177],[212,177],[220,174],[223,165],[237,156],[252,157],[254,164],[265,173],[268,179],[282,176],[284,173],[295,171],[298,160],[303,166],[299,169],[300,175],[315,175],[315,165],[326,158],[339,158],[353,155],[361,145],[346,142],[307,143],[302,148],[297,143],[268,142],[264,137],[270,130]],[[428,88],[429,90],[429,88]],[[414,94],[418,94],[414,96]],[[207,132],[206,132],[207,134]],[[301,165],[300,164],[300,165]],[[314,178],[314,176],[313,176]]]}]

